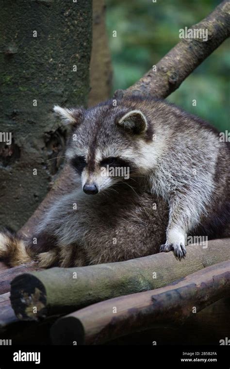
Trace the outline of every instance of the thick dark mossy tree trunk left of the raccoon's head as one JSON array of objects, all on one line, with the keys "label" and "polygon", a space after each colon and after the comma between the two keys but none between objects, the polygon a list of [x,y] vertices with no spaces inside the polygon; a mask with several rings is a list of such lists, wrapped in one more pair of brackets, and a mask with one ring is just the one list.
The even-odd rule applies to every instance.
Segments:
[{"label": "thick dark mossy tree trunk left of the raccoon's head", "polygon": [[0,225],[17,230],[62,167],[53,158],[66,128],[53,105],[87,101],[92,1],[0,0],[0,9],[0,133],[11,134],[0,142]]}]

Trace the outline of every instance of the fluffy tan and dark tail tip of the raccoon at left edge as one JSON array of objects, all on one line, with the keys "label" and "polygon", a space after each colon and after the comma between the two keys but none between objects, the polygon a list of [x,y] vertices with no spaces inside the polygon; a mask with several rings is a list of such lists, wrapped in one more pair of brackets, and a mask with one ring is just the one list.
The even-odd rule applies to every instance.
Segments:
[{"label": "fluffy tan and dark tail tip of the raccoon at left edge", "polygon": [[29,263],[33,259],[26,252],[26,245],[21,237],[11,231],[0,232],[0,260],[10,267]]}]

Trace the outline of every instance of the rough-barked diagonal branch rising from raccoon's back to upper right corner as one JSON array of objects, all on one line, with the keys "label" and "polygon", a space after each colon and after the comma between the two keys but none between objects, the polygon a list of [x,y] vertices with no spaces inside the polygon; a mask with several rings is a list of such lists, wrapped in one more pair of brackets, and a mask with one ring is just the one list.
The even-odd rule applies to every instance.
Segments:
[{"label": "rough-barked diagonal branch rising from raccoon's back to upper right corner", "polygon": [[115,97],[141,94],[166,98],[230,35],[230,1],[225,0],[201,22],[189,27],[207,29],[208,40],[184,38],[139,81],[127,90],[115,91]]}]

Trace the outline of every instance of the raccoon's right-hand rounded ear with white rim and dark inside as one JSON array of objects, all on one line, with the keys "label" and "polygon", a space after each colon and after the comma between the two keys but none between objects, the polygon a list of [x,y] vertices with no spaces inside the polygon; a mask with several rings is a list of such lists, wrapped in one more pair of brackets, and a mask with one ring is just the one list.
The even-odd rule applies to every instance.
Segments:
[{"label": "raccoon's right-hand rounded ear with white rim and dark inside", "polygon": [[125,130],[134,133],[142,134],[147,130],[147,119],[140,110],[132,110],[121,117],[117,124]]}]

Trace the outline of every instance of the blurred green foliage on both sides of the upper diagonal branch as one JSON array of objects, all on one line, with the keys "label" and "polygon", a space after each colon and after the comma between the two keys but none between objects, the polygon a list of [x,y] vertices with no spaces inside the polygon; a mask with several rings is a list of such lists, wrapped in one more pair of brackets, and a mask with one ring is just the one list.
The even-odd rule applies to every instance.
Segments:
[{"label": "blurred green foliage on both sides of the upper diagonal branch", "polygon": [[[198,23],[216,0],[107,0],[113,91],[134,84],[179,41],[179,29]],[[113,31],[117,36],[113,37]],[[226,40],[167,100],[230,129],[230,42]],[[112,91],[112,92],[113,92]],[[197,106],[192,101],[197,100]]]}]

